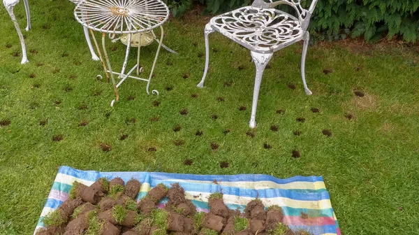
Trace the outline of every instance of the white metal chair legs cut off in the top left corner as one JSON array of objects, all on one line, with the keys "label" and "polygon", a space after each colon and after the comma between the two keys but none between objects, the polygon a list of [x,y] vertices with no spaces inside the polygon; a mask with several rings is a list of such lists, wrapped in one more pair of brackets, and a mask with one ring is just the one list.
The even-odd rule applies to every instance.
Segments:
[{"label": "white metal chair legs cut off in the top left corner", "polygon": [[[24,2],[24,9],[26,10],[26,13],[27,13],[26,31],[29,31],[29,29],[31,29],[31,13],[29,11],[29,3],[28,3],[27,0],[23,0],[23,2]],[[22,35],[22,31],[20,31],[19,23],[17,23],[15,13],[13,13],[13,9],[17,5],[17,3],[19,3],[19,0],[3,0],[3,5],[6,8],[10,17],[12,18],[13,24],[15,24],[17,34],[19,35],[20,44],[22,45],[22,62],[20,62],[20,63],[21,64],[26,64],[27,62],[29,62],[29,60],[27,58],[26,45],[24,44],[24,38],[23,38],[23,35]]]}]

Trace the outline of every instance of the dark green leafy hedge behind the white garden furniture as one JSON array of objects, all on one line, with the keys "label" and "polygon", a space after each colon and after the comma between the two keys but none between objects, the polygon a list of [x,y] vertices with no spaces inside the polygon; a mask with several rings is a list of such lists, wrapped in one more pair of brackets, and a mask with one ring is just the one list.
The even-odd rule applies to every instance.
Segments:
[{"label": "dark green leafy hedge behind the white garden furniture", "polygon": [[[165,0],[175,17],[191,8],[193,0]],[[251,0],[199,0],[205,13],[218,14]],[[308,8],[311,0],[301,0]],[[419,41],[419,0],[318,0],[309,27],[320,40],[363,36],[376,42],[387,36],[400,36],[406,42]]]}]

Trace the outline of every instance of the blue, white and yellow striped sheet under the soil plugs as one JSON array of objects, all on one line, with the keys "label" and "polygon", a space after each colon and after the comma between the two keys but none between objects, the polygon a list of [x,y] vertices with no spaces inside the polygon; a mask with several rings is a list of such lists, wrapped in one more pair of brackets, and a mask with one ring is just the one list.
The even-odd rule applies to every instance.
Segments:
[{"label": "blue, white and yellow striped sheet under the soil plugs", "polygon": [[[75,180],[85,185],[91,185],[98,178],[109,180],[115,177],[125,182],[131,178],[139,180],[142,185],[138,198],[145,197],[152,188],[163,183],[178,182],[186,192],[186,198],[191,199],[198,211],[209,211],[207,197],[213,192],[223,192],[223,199],[229,208],[243,210],[246,204],[258,197],[265,206],[279,205],[284,210],[284,223],[293,231],[305,229],[312,234],[341,234],[335,213],[330,204],[322,177],[295,176],[278,179],[267,175],[191,175],[157,172],[98,172],[80,171],[68,166],[61,166],[52,185],[47,202],[38,220],[36,230],[43,226],[43,216],[54,211],[68,198],[68,192]],[[159,203],[166,204],[167,199]],[[309,218],[302,218],[306,213]]]}]

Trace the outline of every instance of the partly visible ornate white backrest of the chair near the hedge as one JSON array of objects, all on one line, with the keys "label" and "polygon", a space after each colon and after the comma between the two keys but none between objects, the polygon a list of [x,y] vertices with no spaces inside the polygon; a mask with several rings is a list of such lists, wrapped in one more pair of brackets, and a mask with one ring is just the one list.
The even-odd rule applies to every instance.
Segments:
[{"label": "partly visible ornate white backrest of the chair near the hedge", "polygon": [[298,20],[300,20],[302,30],[305,31],[307,30],[307,27],[309,27],[311,14],[313,13],[318,0],[311,1],[311,6],[309,10],[302,8],[301,1],[304,1],[304,0],[279,0],[279,1],[255,0],[251,4],[251,6],[258,7],[258,8],[275,8],[276,6],[281,5],[281,4],[292,6],[297,11]]}]

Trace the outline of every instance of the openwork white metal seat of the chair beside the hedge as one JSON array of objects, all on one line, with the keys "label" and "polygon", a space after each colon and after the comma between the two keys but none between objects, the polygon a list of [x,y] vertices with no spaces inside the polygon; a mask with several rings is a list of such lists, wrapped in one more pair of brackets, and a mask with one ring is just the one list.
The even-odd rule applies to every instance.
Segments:
[{"label": "openwork white metal seat of the chair beside the hedge", "polygon": [[212,29],[249,50],[272,53],[303,38],[299,20],[274,8],[245,6],[212,17]]}]

